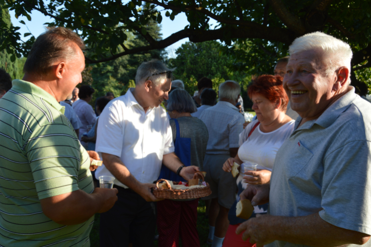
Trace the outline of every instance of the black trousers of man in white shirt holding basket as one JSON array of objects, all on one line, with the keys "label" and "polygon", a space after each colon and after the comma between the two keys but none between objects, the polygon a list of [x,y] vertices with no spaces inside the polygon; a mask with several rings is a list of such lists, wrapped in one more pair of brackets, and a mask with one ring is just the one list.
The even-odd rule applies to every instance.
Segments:
[{"label": "black trousers of man in white shirt holding basket", "polygon": [[119,190],[115,205],[100,214],[100,247],[153,247],[155,204],[146,202],[131,189]]}]

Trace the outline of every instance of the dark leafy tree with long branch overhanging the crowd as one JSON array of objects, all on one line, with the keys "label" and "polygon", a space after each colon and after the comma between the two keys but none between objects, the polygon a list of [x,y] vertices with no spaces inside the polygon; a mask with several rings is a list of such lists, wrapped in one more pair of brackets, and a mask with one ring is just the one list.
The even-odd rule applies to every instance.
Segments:
[{"label": "dark leafy tree with long branch overhanging the crowd", "polygon": [[[141,4],[145,2],[145,8]],[[143,51],[165,48],[176,41],[189,38],[192,42],[222,41],[227,48],[237,45],[236,66],[240,69],[268,71],[271,64],[286,53],[288,45],[297,37],[323,31],[347,41],[353,51],[353,72],[371,67],[371,1],[369,0],[0,0],[0,4],[14,9],[17,16],[31,18],[38,10],[54,18],[50,25],[79,30],[91,47],[88,63],[100,63]],[[161,23],[156,7],[165,9],[171,20],[180,12],[187,16],[189,25],[164,40],[156,40],[145,25],[154,20]],[[210,18],[218,22],[210,29]],[[27,55],[33,42],[17,43],[19,33],[0,24],[7,38],[0,41],[0,49]],[[136,32],[145,43],[127,47],[126,32]],[[19,40],[19,39],[18,39]],[[122,49],[118,49],[118,46]],[[243,52],[244,51],[244,52]],[[246,60],[247,59],[247,60]],[[357,92],[365,94],[367,85],[359,82],[362,76],[352,72],[352,84]]]}]

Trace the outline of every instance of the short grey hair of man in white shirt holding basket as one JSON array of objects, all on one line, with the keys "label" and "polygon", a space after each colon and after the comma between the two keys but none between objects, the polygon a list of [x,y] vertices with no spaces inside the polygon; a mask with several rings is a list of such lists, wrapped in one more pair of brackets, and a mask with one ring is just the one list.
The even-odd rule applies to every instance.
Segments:
[{"label": "short grey hair of man in white shirt holding basket", "polygon": [[167,68],[163,62],[157,59],[153,59],[148,62],[143,62],[138,67],[137,75],[135,77],[135,83],[136,85],[139,85],[145,82],[145,80],[148,78],[148,80],[151,79],[151,81],[157,86],[164,82],[164,80],[166,79],[166,73],[152,76],[153,74],[174,70],[175,69]]}]

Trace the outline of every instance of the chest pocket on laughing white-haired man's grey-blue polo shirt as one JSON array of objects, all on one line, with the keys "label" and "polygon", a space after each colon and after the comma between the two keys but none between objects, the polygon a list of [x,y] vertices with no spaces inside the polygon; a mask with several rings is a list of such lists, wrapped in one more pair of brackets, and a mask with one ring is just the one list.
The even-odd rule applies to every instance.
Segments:
[{"label": "chest pocket on laughing white-haired man's grey-blue polo shirt", "polygon": [[308,165],[313,154],[300,141],[294,145],[293,150],[286,150],[289,154],[289,165],[286,166],[286,174],[288,177],[295,177],[301,170]]}]

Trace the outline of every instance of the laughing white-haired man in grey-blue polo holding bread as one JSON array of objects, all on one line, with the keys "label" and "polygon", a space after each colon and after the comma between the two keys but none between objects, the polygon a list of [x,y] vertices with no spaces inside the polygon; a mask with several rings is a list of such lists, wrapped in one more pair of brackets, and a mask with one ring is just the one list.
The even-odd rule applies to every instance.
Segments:
[{"label": "laughing white-haired man in grey-blue polo holding bread", "polygon": [[270,215],[236,233],[258,247],[371,246],[371,104],[350,86],[352,50],[317,32],[297,38],[283,86],[299,114],[278,150],[271,183],[242,199]]}]

